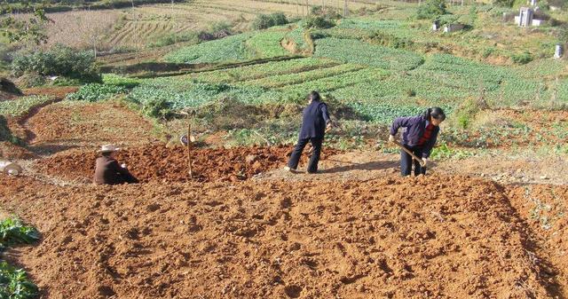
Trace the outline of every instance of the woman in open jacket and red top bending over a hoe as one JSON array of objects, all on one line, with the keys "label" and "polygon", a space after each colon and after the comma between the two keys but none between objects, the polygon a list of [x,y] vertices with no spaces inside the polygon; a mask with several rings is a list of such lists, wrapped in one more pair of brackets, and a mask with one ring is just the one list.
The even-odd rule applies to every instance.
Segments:
[{"label": "woman in open jacket and red top bending over a hoe", "polygon": [[[398,128],[405,128],[402,133],[402,146],[422,158],[423,167],[419,161],[414,161],[414,176],[426,174],[426,164],[438,138],[438,127],[446,119],[446,114],[440,107],[428,108],[424,114],[411,117],[398,117],[392,122],[389,141],[394,142]],[[412,156],[400,150],[400,173],[403,177],[410,176]]]}]

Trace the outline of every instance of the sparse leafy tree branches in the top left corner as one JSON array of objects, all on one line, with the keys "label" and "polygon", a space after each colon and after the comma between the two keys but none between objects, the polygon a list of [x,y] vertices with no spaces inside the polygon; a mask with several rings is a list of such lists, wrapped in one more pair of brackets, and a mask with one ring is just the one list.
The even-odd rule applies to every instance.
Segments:
[{"label": "sparse leafy tree branches in the top left corner", "polygon": [[[1,13],[10,14],[0,19],[2,35],[8,37],[10,43],[32,41],[36,44],[46,43],[47,35],[43,33],[43,24],[50,19],[45,16],[41,8],[34,7],[28,20],[12,15],[12,7],[9,4],[1,4]],[[28,8],[28,4],[24,9]]]}]

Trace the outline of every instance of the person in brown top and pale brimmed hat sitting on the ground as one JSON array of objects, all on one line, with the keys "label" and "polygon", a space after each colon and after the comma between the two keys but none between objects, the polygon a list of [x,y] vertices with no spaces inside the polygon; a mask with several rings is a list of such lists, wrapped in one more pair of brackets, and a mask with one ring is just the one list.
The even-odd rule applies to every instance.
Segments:
[{"label": "person in brown top and pale brimmed hat sitting on the ground", "polygon": [[96,185],[121,185],[125,183],[138,183],[138,179],[126,169],[126,165],[118,165],[116,153],[120,148],[113,145],[105,145],[97,151],[100,157],[95,164],[94,183]]}]

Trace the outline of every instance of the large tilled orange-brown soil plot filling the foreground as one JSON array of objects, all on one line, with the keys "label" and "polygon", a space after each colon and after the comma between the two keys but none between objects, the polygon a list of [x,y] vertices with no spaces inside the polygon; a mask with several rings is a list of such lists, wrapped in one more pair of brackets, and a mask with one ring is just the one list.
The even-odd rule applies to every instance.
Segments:
[{"label": "large tilled orange-brown soil plot filling the foreground", "polygon": [[7,253],[40,299],[558,295],[503,188],[480,179],[0,185],[43,233]]}]

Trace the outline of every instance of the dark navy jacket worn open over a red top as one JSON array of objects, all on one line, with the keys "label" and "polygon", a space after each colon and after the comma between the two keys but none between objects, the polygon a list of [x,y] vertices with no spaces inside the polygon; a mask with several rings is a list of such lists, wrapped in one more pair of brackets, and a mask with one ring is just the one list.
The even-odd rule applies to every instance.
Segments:
[{"label": "dark navy jacket worn open over a red top", "polygon": [[[402,133],[402,144],[414,147],[420,142],[420,138],[424,135],[424,130],[426,130],[428,123],[428,120],[423,115],[398,117],[394,120],[394,122],[392,122],[390,135],[394,136],[397,134],[398,128],[406,128],[406,130]],[[422,158],[430,157],[430,152],[432,151],[432,147],[436,144],[439,131],[440,128],[436,126],[434,127],[434,130],[432,130],[430,139],[422,146]]]}]

